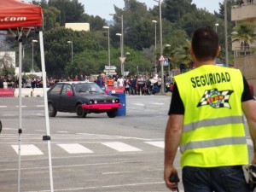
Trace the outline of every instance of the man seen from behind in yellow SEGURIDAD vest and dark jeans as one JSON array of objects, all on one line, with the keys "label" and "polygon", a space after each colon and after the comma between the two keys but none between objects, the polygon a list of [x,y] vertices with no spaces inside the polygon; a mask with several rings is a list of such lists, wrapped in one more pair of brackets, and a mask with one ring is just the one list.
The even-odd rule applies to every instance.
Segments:
[{"label": "man seen from behind in yellow SEGURIDAD vest and dark jeans", "polygon": [[211,27],[197,29],[191,44],[195,69],[175,77],[164,172],[172,191],[177,189],[170,178],[177,176],[173,163],[178,147],[185,192],[250,191],[242,170],[248,164],[243,113],[255,152],[256,105],[238,69],[215,65],[219,50],[218,34]]}]

